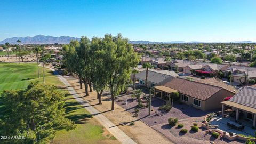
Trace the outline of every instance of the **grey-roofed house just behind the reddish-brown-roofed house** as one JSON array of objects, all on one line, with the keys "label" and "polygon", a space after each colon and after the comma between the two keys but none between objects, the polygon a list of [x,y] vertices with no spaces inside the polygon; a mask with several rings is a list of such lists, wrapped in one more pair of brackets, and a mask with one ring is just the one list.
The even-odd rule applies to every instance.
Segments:
[{"label": "grey-roofed house just behind the reddish-brown-roofed house", "polygon": [[[139,81],[140,85],[146,84],[146,71],[143,70],[137,74],[135,74],[135,78]],[[148,70],[148,79],[147,79],[147,87],[153,87],[158,83],[164,81],[166,78],[169,77],[178,77],[179,75],[175,73],[175,71],[169,70],[155,70],[149,69]]]}]

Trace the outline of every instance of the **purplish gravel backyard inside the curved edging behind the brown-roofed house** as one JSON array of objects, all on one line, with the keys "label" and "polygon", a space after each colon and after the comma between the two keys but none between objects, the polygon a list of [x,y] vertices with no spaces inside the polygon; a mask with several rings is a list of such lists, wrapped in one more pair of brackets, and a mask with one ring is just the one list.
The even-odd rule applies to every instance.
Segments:
[{"label": "purplish gravel backyard inside the curved edging behind the brown-roofed house", "polygon": [[[127,99],[127,106],[126,106],[126,99]],[[122,100],[122,101],[121,101]],[[136,108],[137,101],[134,99],[132,100],[131,94],[125,95],[124,97],[119,97],[116,100],[116,103],[118,105],[125,108],[130,113],[134,114],[134,109]],[[162,106],[164,103],[163,100],[153,97],[151,101],[151,115],[148,116],[148,108],[141,108],[140,112],[138,113],[138,118],[141,119],[141,121],[145,122],[149,126],[157,125],[157,124],[163,124],[168,121],[168,118],[170,117],[176,117],[179,120],[181,119],[191,119],[191,121],[203,121],[204,117],[211,113],[212,111],[202,111],[195,109],[193,107],[189,107],[185,104],[180,103],[174,103],[174,107],[169,111],[161,111],[158,110],[160,106]],[[143,103],[144,105],[146,103]]]}]

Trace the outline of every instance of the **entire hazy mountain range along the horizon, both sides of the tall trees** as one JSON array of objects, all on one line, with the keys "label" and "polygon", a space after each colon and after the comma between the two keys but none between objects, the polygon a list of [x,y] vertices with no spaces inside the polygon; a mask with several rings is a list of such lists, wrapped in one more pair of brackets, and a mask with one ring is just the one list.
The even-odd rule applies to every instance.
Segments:
[{"label": "entire hazy mountain range along the horizon, both sides of the tall trees", "polygon": [[[54,37],[54,36],[44,36],[44,35],[37,35],[34,37],[12,37],[12,38],[6,38],[3,41],[0,42],[0,44],[10,43],[10,44],[18,44],[17,40],[21,41],[21,44],[68,44],[71,40],[77,40],[79,41],[80,38],[77,37],[70,37],[70,36],[60,36],[60,37]],[[170,41],[170,42],[151,42],[151,41],[130,41],[132,44],[175,44],[175,43],[220,43],[220,42],[199,42],[199,41],[191,41],[191,42],[185,42],[185,41]],[[230,42],[225,42],[230,43]],[[231,43],[256,43],[252,41],[236,41]]]}]

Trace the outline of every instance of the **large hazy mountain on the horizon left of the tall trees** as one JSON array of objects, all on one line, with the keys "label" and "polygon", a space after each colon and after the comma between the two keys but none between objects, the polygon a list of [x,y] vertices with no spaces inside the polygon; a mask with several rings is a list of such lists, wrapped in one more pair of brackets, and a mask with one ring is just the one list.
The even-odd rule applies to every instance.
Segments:
[{"label": "large hazy mountain on the horizon left of the tall trees", "polygon": [[21,41],[21,44],[68,44],[71,40],[80,40],[80,38],[70,37],[70,36],[44,36],[44,35],[37,35],[34,37],[12,37],[6,38],[4,41],[1,41],[0,44],[10,43],[10,44],[18,44],[17,40]]}]

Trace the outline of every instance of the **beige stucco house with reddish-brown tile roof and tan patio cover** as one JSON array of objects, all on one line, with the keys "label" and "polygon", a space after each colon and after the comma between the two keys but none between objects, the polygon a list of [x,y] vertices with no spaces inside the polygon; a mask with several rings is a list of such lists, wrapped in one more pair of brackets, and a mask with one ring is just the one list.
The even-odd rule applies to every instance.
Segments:
[{"label": "beige stucco house with reddish-brown tile roof and tan patio cover", "polygon": [[180,101],[203,111],[221,108],[224,98],[236,94],[222,86],[169,77],[154,87],[156,97],[167,99],[173,92],[180,93]]}]

